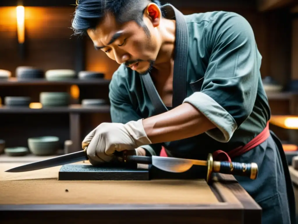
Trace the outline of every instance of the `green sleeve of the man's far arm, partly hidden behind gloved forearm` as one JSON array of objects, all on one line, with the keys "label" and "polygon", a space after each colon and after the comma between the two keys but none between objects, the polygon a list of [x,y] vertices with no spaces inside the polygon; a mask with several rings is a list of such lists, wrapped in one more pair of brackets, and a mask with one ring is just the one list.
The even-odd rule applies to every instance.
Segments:
[{"label": "green sleeve of the man's far arm, partly hidden behind gloved forearm", "polygon": [[[112,122],[125,124],[129,121],[137,121],[142,119],[142,117],[136,113],[136,110],[132,105],[129,92],[125,86],[125,81],[122,79],[122,77],[118,76],[117,72],[113,75],[109,85],[109,99],[111,104],[110,112]],[[146,156],[156,156],[159,155],[162,145],[143,145],[142,148],[145,149]]]}]

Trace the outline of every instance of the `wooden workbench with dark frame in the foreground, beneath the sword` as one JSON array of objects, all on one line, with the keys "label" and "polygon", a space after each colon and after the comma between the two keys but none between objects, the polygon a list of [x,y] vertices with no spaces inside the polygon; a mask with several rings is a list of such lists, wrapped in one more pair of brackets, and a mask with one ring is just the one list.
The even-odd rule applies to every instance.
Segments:
[{"label": "wooden workbench with dark frame in the foreground, beneath the sword", "polygon": [[230,175],[198,180],[62,181],[60,166],[24,173],[0,163],[1,223],[261,223]]}]

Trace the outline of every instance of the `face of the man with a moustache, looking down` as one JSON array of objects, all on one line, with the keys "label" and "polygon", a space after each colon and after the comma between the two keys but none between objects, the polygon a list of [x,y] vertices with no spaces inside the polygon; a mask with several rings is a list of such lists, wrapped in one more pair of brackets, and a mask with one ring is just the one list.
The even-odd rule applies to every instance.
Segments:
[{"label": "face of the man with a moustache, looking down", "polygon": [[87,33],[96,49],[104,51],[109,58],[124,63],[140,74],[147,73],[157,57],[159,44],[156,30],[149,17],[143,18],[148,33],[135,21],[118,24],[114,16],[107,14],[95,30]]}]

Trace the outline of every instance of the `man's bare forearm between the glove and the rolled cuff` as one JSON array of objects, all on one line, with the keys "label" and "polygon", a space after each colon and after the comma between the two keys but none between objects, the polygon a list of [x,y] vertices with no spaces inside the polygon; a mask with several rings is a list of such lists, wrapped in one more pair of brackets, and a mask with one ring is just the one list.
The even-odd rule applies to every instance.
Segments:
[{"label": "man's bare forearm between the glove and the rolled cuff", "polygon": [[189,138],[215,128],[212,122],[188,103],[144,119],[143,126],[153,144]]}]

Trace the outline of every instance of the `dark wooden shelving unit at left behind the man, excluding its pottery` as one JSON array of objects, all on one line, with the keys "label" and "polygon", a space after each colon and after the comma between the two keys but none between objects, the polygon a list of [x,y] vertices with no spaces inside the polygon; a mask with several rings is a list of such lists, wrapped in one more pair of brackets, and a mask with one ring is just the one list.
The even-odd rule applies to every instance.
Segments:
[{"label": "dark wooden shelving unit at left behind the man, excluding its pottery", "polygon": [[[80,90],[78,99],[72,99],[67,107],[7,107],[0,106],[0,139],[6,147],[27,147],[27,139],[36,136],[58,136],[60,148],[66,140],[72,141],[67,153],[80,151],[83,138],[101,122],[110,122],[110,106],[86,107],[82,99],[106,99],[108,102],[107,79],[70,79],[48,81],[46,79],[0,80],[0,97],[29,96],[32,102],[39,102],[41,92],[69,92],[73,85]],[[3,155],[2,155],[3,156]],[[25,157],[24,157],[25,158]],[[26,157],[27,158],[27,157]],[[38,159],[38,158],[37,158]]]}]

